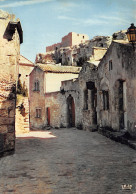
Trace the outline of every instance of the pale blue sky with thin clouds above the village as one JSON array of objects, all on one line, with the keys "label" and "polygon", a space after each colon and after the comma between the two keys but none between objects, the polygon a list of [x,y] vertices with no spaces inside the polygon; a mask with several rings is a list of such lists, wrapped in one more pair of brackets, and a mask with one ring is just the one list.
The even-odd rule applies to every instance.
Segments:
[{"label": "pale blue sky with thin clouds above the village", "polygon": [[20,18],[21,54],[32,62],[69,32],[91,39],[136,25],[136,0],[0,0],[0,9]]}]

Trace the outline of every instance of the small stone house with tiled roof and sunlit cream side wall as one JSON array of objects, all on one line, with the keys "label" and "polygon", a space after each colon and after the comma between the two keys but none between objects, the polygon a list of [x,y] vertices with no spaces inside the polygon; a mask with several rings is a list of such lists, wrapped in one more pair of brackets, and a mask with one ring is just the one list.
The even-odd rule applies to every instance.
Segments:
[{"label": "small stone house with tiled roof and sunlit cream side wall", "polygon": [[30,125],[41,129],[61,125],[61,81],[78,77],[80,67],[37,64],[30,73]]}]

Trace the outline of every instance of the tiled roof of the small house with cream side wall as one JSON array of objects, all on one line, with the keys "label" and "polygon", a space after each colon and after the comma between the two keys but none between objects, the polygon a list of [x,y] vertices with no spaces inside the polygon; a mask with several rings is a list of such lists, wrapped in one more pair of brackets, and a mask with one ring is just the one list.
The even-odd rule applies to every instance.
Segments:
[{"label": "tiled roof of the small house with cream side wall", "polygon": [[73,66],[57,66],[52,64],[36,64],[44,72],[54,72],[54,73],[75,73],[78,74],[81,70],[81,67]]}]

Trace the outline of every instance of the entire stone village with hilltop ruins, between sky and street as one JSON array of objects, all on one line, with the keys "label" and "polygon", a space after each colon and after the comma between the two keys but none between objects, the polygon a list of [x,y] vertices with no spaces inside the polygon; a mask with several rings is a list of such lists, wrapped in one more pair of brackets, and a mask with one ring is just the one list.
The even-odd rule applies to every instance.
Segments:
[{"label": "entire stone village with hilltop ruins, between sky and street", "polygon": [[[111,36],[70,32],[36,55],[20,54],[19,19],[0,11],[0,153],[15,132],[76,127],[136,137],[136,52],[126,31]],[[63,133],[63,131],[62,131]]]}]

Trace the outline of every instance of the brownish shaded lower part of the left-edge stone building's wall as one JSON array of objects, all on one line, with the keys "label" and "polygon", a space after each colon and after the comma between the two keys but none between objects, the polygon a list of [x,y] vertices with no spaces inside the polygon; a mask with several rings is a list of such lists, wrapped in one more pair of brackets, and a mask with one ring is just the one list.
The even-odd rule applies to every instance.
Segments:
[{"label": "brownish shaded lower part of the left-edge stone building's wall", "polygon": [[2,81],[0,84],[0,156],[15,150],[16,84]]}]

